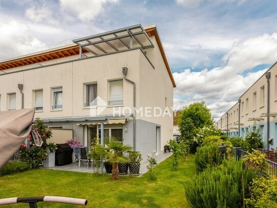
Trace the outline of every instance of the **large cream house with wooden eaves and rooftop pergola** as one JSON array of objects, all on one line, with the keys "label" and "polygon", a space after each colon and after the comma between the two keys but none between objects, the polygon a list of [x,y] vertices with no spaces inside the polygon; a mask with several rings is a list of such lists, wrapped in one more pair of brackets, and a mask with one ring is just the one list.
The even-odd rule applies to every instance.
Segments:
[{"label": "large cream house with wooden eaves and rooftop pergola", "polygon": [[34,108],[35,118],[72,130],[84,146],[96,136],[102,142],[115,136],[145,158],[172,138],[173,87],[156,26],[74,39],[0,62],[0,110]]}]

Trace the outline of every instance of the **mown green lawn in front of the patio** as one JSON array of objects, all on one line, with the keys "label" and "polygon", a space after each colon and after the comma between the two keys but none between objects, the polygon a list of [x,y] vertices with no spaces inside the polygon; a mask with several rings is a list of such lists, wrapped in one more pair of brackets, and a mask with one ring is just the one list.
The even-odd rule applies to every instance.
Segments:
[{"label": "mown green lawn in front of the patio", "polygon": [[[0,198],[27,196],[64,196],[88,200],[80,207],[190,207],[184,183],[195,174],[194,155],[171,171],[171,157],[156,167],[158,180],[141,177],[95,175],[70,171],[37,169],[0,177]],[[29,207],[28,204],[3,205]],[[38,207],[76,207],[61,203],[38,202]]]}]

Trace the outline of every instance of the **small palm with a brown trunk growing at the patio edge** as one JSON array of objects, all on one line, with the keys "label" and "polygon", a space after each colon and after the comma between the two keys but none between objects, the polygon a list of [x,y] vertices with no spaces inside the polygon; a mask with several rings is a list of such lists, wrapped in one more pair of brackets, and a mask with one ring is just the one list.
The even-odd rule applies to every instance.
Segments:
[{"label": "small palm with a brown trunk growing at the patio edge", "polygon": [[105,147],[101,146],[102,150],[106,152],[108,156],[108,161],[112,164],[112,179],[118,180],[118,163],[128,161],[128,159],[122,156],[123,152],[129,151],[132,149],[129,145],[124,145],[123,141],[119,141],[115,137],[108,137],[105,141]]}]

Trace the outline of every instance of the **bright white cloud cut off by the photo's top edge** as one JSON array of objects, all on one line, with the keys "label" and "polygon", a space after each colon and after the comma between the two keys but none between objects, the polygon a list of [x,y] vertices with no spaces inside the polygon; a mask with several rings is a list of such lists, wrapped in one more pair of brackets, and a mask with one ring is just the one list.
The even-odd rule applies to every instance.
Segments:
[{"label": "bright white cloud cut off by the photo's top edge", "polygon": [[75,0],[60,0],[60,6],[64,12],[71,12],[82,21],[93,20],[103,11],[107,3],[117,3],[119,0],[83,0],[77,3]]}]

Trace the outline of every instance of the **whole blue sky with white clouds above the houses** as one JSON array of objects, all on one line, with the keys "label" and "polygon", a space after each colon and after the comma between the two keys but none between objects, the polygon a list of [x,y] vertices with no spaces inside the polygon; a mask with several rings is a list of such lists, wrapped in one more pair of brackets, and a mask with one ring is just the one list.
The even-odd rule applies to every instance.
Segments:
[{"label": "whole blue sky with white clouds above the houses", "polygon": [[174,108],[205,101],[217,121],[277,61],[275,0],[0,0],[0,60],[156,25]]}]

